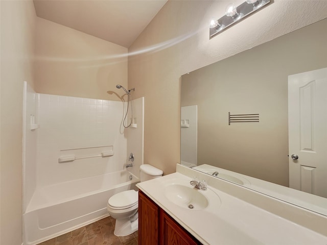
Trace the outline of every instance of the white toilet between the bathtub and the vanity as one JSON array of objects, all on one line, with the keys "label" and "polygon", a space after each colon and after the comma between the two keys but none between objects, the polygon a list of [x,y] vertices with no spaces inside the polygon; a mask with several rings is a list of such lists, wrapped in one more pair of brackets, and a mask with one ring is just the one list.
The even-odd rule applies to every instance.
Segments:
[{"label": "white toilet between the bathtub and the vanity", "polygon": [[[139,167],[141,182],[161,177],[162,170],[143,164]],[[107,209],[116,219],[114,234],[116,236],[127,236],[138,229],[138,191],[126,190],[114,194],[108,200]]]}]

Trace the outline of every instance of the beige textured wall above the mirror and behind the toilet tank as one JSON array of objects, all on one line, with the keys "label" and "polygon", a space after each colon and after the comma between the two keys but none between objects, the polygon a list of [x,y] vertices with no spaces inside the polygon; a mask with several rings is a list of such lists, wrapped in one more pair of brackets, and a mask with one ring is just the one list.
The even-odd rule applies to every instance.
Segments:
[{"label": "beige textured wall above the mirror and behind the toilet tank", "polygon": [[128,84],[135,97],[145,96],[145,163],[165,174],[180,161],[181,75],[327,15],[324,1],[273,1],[209,40],[209,20],[221,17],[225,7],[225,1],[168,1],[129,48]]}]

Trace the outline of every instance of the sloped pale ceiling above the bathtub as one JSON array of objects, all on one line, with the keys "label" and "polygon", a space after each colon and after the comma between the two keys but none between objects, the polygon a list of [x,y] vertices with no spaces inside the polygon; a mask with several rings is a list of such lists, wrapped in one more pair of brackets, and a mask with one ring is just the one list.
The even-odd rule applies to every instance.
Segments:
[{"label": "sloped pale ceiling above the bathtub", "polygon": [[34,0],[36,15],[129,47],[168,0]]}]

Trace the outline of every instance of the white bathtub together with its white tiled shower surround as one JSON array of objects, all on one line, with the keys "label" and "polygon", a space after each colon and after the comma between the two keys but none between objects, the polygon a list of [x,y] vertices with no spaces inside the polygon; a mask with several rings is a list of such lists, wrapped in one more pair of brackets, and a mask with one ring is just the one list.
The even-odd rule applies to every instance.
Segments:
[{"label": "white bathtub together with its white tiled shower surround", "polygon": [[23,241],[34,245],[108,216],[108,199],[135,189],[144,99],[133,101],[137,127],[124,129],[123,102],[38,94],[28,84],[24,98]]}]

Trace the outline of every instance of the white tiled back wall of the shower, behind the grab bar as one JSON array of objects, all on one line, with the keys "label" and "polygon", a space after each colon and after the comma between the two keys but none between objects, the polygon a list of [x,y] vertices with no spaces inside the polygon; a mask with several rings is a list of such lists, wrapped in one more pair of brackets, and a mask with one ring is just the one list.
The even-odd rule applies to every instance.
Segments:
[{"label": "white tiled back wall of the shower, behind the grab bar", "polygon": [[[35,130],[37,186],[122,170],[120,163],[127,156],[127,138],[121,129],[122,102],[51,94],[37,96],[40,125]],[[103,145],[113,145],[114,155],[58,163],[58,157],[65,154],[62,150]]]}]

